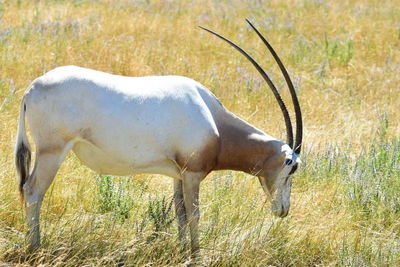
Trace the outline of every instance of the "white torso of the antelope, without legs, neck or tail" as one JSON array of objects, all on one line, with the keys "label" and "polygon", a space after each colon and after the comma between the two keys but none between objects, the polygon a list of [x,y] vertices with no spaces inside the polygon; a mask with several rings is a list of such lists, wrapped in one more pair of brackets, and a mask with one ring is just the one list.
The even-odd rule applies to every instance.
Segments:
[{"label": "white torso of the antelope, without legs, neck or tail", "polygon": [[225,111],[186,77],[124,77],[74,66],[36,79],[25,103],[39,150],[67,142],[99,173],[175,178],[177,154],[190,157],[218,137],[214,117]]}]

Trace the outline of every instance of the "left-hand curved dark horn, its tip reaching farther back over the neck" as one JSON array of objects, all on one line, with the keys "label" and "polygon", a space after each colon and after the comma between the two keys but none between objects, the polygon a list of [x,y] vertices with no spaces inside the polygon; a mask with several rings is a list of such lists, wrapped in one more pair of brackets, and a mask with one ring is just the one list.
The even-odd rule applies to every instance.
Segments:
[{"label": "left-hand curved dark horn, its tip reaching farther back over the neck", "polygon": [[252,64],[253,66],[258,70],[258,72],[261,74],[261,76],[264,78],[264,80],[267,82],[268,86],[271,88],[272,93],[274,94],[276,101],[278,101],[279,107],[282,110],[283,117],[285,119],[285,124],[286,124],[286,143],[289,145],[289,147],[293,147],[293,128],[292,128],[292,123],[290,121],[290,116],[289,112],[285,106],[285,103],[282,100],[282,97],[280,96],[278,90],[276,90],[275,85],[272,83],[271,79],[268,77],[268,75],[265,73],[265,71],[260,67],[260,65],[249,55],[247,54],[242,48],[240,48],[238,45],[233,43],[232,41],[228,40],[227,38],[219,35],[218,33],[215,33],[207,28],[204,28],[202,26],[199,26],[199,28],[208,31],[209,33],[214,34],[215,36],[221,38],[228,44],[230,44],[232,47],[234,47],[236,50],[238,50],[242,55],[244,55]]}]

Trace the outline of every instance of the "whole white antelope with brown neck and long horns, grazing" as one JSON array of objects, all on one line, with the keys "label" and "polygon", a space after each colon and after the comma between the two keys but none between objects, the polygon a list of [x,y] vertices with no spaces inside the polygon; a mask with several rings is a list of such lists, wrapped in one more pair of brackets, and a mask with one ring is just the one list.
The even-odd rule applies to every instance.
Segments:
[{"label": "whole white antelope with brown neck and long horns, grazing", "polygon": [[[31,249],[40,244],[43,196],[71,149],[99,173],[172,177],[179,237],[185,238],[188,225],[194,253],[199,249],[199,186],[213,170],[258,176],[272,196],[273,213],[288,214],[291,174],[300,162],[300,106],[280,59],[247,22],[272,53],[288,84],[296,112],[295,143],[288,111],[264,70],[237,45],[205,28],[245,55],[268,83],[285,118],[287,144],[229,112],[208,89],[189,78],[124,77],[74,66],[56,68],[33,81],[22,99],[19,117],[15,161]],[[25,116],[36,146],[32,173]]]}]

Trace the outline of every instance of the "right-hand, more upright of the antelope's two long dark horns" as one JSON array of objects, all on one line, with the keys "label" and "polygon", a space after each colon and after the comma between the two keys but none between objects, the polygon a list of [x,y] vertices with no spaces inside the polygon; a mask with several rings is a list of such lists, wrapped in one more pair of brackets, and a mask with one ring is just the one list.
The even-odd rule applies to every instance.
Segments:
[{"label": "right-hand, more upright of the antelope's two long dark horns", "polygon": [[253,30],[257,33],[258,37],[260,37],[260,39],[267,46],[268,50],[271,52],[272,56],[274,57],[276,63],[278,63],[283,76],[285,77],[286,84],[289,87],[290,95],[292,96],[294,112],[296,114],[296,142],[295,142],[294,147],[292,147],[292,149],[294,150],[294,152],[296,154],[300,154],[301,143],[302,143],[302,139],[303,139],[303,119],[301,116],[301,108],[300,108],[299,100],[297,98],[297,94],[294,89],[292,80],[290,79],[290,76],[289,76],[288,72],[286,71],[285,66],[283,65],[282,61],[278,57],[278,54],[276,54],[276,52],[272,48],[272,46],[268,43],[268,41],[264,38],[264,36],[256,29],[256,27],[254,27],[253,24],[251,24],[251,22],[248,19],[246,19],[246,21],[253,28]]}]

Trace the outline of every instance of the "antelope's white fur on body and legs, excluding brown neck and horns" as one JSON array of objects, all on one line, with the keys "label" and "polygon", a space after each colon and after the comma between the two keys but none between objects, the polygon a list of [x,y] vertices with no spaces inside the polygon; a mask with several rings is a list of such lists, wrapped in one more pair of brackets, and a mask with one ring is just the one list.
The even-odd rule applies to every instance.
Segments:
[{"label": "antelope's white fur on body and legs, excluding brown neck and horns", "polygon": [[[99,173],[173,177],[179,236],[184,236],[188,224],[194,252],[199,248],[199,184],[207,171],[185,171],[177,163],[177,155],[190,158],[210,140],[219,140],[217,122],[222,125],[229,120],[236,127],[233,129],[249,133],[248,139],[237,142],[246,146],[246,142],[266,145],[271,141],[271,149],[282,148],[278,155],[285,153],[297,162],[297,155],[287,145],[240,120],[201,84],[181,76],[124,77],[74,66],[46,73],[32,83],[23,98],[16,145],[16,152],[22,152],[17,159],[25,153],[21,144],[29,148],[25,114],[37,151],[33,172],[25,182],[21,179],[31,248],[40,244],[43,196],[71,149]],[[290,170],[285,166],[278,178],[270,177],[277,188],[279,207],[283,205],[277,211],[281,215],[287,214],[289,207],[291,178],[290,183],[282,181],[287,181]],[[260,181],[267,191],[266,180]]]}]

